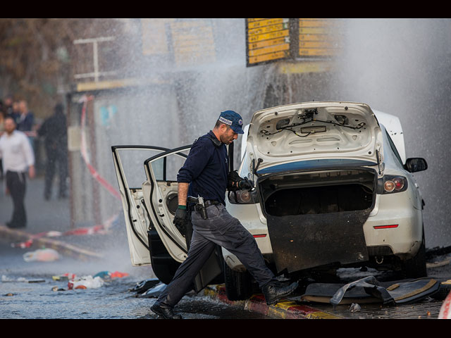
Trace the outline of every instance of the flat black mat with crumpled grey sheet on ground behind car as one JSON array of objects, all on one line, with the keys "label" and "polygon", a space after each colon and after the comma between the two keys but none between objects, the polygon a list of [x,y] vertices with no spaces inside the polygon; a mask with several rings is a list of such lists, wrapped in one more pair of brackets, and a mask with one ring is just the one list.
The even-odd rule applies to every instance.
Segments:
[{"label": "flat black mat with crumpled grey sheet on ground behind car", "polygon": [[333,306],[349,303],[412,303],[431,296],[440,289],[433,278],[378,282],[364,277],[348,284],[312,283],[302,295],[304,301],[330,303]]}]

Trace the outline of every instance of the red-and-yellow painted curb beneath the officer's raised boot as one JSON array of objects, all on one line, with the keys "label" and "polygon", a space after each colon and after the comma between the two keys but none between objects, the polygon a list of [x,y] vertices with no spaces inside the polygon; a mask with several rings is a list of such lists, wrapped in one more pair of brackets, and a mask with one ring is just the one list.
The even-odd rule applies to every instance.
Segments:
[{"label": "red-and-yellow painted curb beneath the officer's raised boot", "polygon": [[204,295],[218,299],[232,306],[239,306],[245,310],[267,315],[279,319],[345,319],[339,315],[333,315],[320,311],[311,306],[301,305],[296,301],[283,299],[275,305],[268,305],[263,294],[254,294],[245,301],[229,301],[226,296],[226,287],[223,284],[210,285],[204,289]]}]

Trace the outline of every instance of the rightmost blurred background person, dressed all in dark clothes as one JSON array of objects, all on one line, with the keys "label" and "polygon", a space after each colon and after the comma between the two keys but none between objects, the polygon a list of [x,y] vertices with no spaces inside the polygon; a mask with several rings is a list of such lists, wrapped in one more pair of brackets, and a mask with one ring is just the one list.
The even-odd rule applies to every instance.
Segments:
[{"label": "rightmost blurred background person, dressed all in dark clothes", "polygon": [[47,161],[45,165],[44,199],[51,197],[51,187],[54,180],[55,168],[58,165],[59,194],[60,199],[67,197],[66,179],[68,177],[68,149],[67,149],[67,125],[63,105],[57,104],[54,115],[51,115],[42,123],[37,131],[39,137],[45,137],[44,147]]}]

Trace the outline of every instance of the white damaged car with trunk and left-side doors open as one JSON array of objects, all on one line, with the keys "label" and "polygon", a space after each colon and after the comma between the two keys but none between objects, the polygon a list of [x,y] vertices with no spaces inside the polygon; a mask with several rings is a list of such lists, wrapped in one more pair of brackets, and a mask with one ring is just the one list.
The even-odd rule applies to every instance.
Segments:
[{"label": "white damaged car with trunk and left-side doors open", "polygon": [[[132,265],[152,265],[165,283],[190,242],[190,233],[183,237],[172,223],[175,177],[189,149],[112,147]],[[142,184],[128,183],[124,151],[140,152]],[[233,146],[229,157],[233,170]],[[426,276],[424,201],[412,173],[427,164],[424,158],[405,158],[394,115],[353,102],[267,108],[245,127],[239,157],[237,172],[254,182],[254,189],[228,192],[227,208],[254,235],[277,275],[299,279],[367,266]],[[223,281],[230,300],[252,292],[252,277],[242,263],[218,248],[194,289]]]}]

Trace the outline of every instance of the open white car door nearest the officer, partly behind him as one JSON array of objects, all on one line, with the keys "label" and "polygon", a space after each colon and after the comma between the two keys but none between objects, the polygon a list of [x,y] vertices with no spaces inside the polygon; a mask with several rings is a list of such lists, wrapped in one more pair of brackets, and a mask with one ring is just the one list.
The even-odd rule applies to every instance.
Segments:
[{"label": "open white car door nearest the officer, partly behind him", "polygon": [[[188,223],[185,237],[173,224],[178,208],[178,170],[185,163],[191,146],[165,151],[144,161],[147,181],[142,184],[144,203],[149,206],[149,218],[171,257],[180,263],[185,261],[192,237],[192,225]],[[194,280],[194,290],[199,292],[216,277],[222,277],[221,248],[212,253],[204,268]],[[216,279],[218,280],[218,279]]]}]

